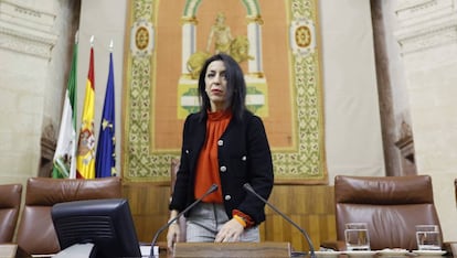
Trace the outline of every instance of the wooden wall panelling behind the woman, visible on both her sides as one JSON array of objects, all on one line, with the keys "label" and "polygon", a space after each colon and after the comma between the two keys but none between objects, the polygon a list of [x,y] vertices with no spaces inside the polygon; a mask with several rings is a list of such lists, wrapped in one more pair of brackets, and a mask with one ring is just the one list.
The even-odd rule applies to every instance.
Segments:
[{"label": "wooden wall panelling behind the woman, visible on both her sides", "polygon": [[[167,223],[170,186],[148,183],[126,183],[124,196],[130,209],[140,241],[150,243],[156,232]],[[333,187],[328,185],[275,185],[269,203],[285,213],[309,234],[315,249],[321,241],[336,239]],[[305,236],[270,207],[261,225],[265,241],[289,241],[295,250],[309,250]],[[164,241],[167,230],[159,236]]]}]

